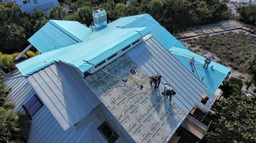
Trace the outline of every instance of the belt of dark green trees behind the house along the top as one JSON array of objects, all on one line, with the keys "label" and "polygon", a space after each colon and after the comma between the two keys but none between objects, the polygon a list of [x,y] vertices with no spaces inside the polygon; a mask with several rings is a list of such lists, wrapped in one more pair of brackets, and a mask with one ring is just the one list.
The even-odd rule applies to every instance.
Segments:
[{"label": "belt of dark green trees behind the house along the top", "polygon": [[48,20],[76,20],[89,26],[92,11],[104,8],[108,20],[116,20],[136,14],[148,13],[167,30],[173,32],[191,26],[226,20],[228,7],[220,0],[138,0],[126,5],[126,0],[61,0],[73,8],[67,13],[61,7],[53,7],[49,16],[41,11],[22,14],[13,2],[0,2],[0,52],[12,54],[23,50],[26,41]]}]

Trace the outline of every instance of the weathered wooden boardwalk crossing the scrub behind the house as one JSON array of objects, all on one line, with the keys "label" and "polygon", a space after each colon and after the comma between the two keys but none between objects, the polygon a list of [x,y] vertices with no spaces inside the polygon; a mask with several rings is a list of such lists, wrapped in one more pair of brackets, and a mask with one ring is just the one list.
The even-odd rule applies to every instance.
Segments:
[{"label": "weathered wooden boardwalk crossing the scrub behind the house", "polygon": [[231,30],[237,30],[237,29],[241,29],[241,30],[244,30],[244,31],[248,31],[248,32],[250,32],[252,34],[256,34],[256,31],[251,29],[251,28],[247,28],[247,27],[240,26],[240,25],[232,25],[232,26],[227,26],[227,27],[222,27],[222,28],[213,28],[213,29],[209,29],[209,30],[189,32],[189,33],[184,33],[184,34],[174,34],[174,36],[177,39],[182,39],[182,38],[189,38],[189,37],[193,37],[193,36],[200,36],[200,35],[205,35],[205,34],[213,34],[213,33],[224,32],[224,31],[231,31]]}]

